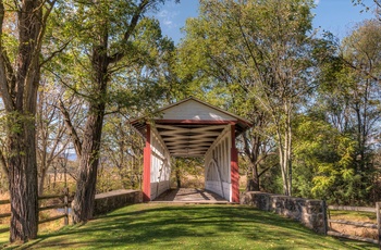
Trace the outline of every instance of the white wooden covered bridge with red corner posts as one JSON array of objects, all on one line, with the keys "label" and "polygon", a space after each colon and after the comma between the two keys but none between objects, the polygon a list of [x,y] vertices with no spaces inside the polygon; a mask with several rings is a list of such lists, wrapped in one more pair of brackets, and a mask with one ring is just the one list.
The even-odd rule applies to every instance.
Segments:
[{"label": "white wooden covered bridge with red corner posts", "polygon": [[144,200],[170,188],[171,158],[205,158],[205,189],[239,202],[238,152],[235,138],[250,123],[196,98],[160,109],[153,120],[132,122],[145,137]]}]

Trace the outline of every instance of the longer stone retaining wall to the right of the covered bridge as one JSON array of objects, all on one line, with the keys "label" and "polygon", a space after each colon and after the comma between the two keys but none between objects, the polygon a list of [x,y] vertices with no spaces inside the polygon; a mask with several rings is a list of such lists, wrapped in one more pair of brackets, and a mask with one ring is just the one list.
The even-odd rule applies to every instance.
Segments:
[{"label": "longer stone retaining wall to the right of the covered bridge", "polygon": [[325,208],[321,200],[250,191],[241,195],[241,204],[294,218],[319,234],[327,232]]}]

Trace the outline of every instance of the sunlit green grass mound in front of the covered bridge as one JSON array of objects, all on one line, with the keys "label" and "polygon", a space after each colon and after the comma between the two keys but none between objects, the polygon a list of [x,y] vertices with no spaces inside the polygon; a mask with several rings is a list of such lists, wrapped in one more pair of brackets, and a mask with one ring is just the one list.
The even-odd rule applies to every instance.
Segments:
[{"label": "sunlit green grass mound in front of the covered bridge", "polygon": [[249,207],[163,203],[126,207],[85,225],[42,233],[22,247],[8,247],[24,248],[378,249],[376,245],[317,235],[297,222]]}]

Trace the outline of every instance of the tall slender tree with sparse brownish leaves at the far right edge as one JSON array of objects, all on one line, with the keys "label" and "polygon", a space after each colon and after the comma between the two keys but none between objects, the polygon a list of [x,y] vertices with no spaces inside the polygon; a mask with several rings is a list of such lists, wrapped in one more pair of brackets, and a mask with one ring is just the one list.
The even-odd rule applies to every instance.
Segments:
[{"label": "tall slender tree with sparse brownish leaves at the far right edge", "polygon": [[366,167],[367,147],[374,134],[374,124],[380,121],[380,80],[381,73],[381,24],[371,20],[361,23],[343,41],[342,60],[345,63],[342,93],[348,100],[354,112],[352,124],[356,128],[359,168]]}]

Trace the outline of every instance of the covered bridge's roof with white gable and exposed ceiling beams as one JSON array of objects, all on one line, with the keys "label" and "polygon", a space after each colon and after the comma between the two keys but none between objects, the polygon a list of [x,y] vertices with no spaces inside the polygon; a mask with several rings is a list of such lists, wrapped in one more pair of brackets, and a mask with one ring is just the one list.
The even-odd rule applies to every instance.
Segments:
[{"label": "covered bridge's roof with white gable and exposed ceiling beams", "polygon": [[202,157],[228,125],[235,125],[236,136],[251,126],[248,120],[194,97],[158,110],[153,118],[142,116],[131,124],[143,136],[151,124],[174,157]]}]

